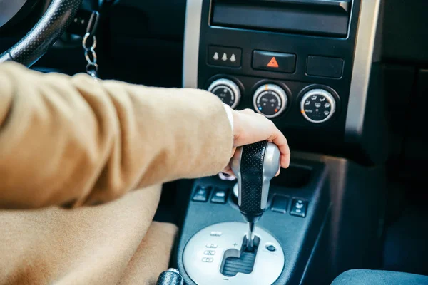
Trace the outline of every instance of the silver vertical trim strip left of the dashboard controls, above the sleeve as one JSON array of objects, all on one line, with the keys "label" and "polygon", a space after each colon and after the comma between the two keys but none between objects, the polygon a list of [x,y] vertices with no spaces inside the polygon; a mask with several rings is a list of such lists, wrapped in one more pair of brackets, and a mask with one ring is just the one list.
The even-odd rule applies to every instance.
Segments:
[{"label": "silver vertical trim strip left of the dashboard controls, above the sleeve", "polygon": [[187,0],[185,9],[183,87],[198,88],[200,19],[203,0]]}]

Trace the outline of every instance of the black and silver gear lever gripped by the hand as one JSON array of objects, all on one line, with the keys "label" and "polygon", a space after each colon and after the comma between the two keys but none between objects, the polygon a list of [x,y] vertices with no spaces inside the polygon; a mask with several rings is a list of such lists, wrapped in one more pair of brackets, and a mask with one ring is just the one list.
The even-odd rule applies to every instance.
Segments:
[{"label": "black and silver gear lever gripped by the hand", "polygon": [[247,250],[253,250],[253,229],[267,206],[270,180],[280,169],[280,150],[262,141],[238,147],[231,167],[238,179],[238,206],[248,222]]}]

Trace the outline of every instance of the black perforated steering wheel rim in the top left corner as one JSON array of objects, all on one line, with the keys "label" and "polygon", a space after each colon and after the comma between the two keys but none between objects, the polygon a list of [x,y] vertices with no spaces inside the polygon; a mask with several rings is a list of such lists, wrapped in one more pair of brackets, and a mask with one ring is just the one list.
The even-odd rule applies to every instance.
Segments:
[{"label": "black perforated steering wheel rim in the top left corner", "polygon": [[1,53],[0,63],[16,61],[31,66],[39,60],[66,31],[82,0],[52,0],[36,26],[8,51]]}]

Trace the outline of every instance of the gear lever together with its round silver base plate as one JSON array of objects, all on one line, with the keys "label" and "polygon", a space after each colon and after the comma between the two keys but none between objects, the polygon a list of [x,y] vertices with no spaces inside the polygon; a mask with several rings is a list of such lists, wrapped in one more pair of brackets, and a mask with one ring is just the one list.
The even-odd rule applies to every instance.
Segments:
[{"label": "gear lever together with its round silver base plate", "polygon": [[273,284],[285,255],[277,239],[255,222],[267,207],[280,151],[267,141],[245,145],[236,150],[231,165],[238,179],[238,206],[247,223],[222,222],[197,232],[183,252],[185,271],[198,285]]}]

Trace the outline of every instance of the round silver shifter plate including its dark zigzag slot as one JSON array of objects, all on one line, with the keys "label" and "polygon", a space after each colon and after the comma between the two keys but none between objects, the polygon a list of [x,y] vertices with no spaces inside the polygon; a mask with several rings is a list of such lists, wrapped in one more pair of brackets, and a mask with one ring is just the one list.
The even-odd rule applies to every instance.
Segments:
[{"label": "round silver shifter plate including its dark zigzag slot", "polygon": [[196,233],[183,253],[183,265],[190,279],[199,285],[274,283],[285,264],[280,243],[256,226],[253,252],[248,252],[247,232],[245,222],[223,222]]}]

